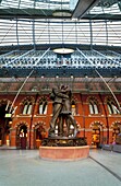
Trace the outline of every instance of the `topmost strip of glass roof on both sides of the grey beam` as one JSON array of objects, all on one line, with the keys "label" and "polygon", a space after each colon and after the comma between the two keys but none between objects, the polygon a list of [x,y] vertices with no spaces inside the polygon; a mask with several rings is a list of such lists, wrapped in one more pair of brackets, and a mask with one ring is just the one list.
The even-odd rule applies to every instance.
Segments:
[{"label": "topmost strip of glass roof on both sides of the grey beam", "polygon": [[[27,15],[39,18],[56,18],[53,11],[69,10],[73,18],[73,12],[77,7],[78,0],[0,0],[0,15]],[[88,3],[88,2],[87,2]],[[94,2],[93,2],[94,3]],[[83,18],[89,19],[112,19],[114,15],[121,15],[121,1],[120,0],[95,0],[94,8],[87,8],[89,11]],[[81,7],[82,8],[82,7]],[[78,8],[80,9],[80,8]],[[87,11],[87,10],[86,10]],[[71,16],[70,16],[71,18]],[[119,16],[120,18],[120,16]],[[118,20],[119,20],[118,18]],[[121,18],[120,18],[121,20]]]}]

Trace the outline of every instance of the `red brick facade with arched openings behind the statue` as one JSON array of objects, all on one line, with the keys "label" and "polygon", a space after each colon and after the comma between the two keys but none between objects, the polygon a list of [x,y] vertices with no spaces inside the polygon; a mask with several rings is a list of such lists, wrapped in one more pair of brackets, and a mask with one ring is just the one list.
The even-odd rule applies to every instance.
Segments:
[{"label": "red brick facade with arched openings behind the statue", "polygon": [[[38,113],[41,97],[45,97],[47,102],[46,114]],[[111,143],[113,138],[121,132],[121,115],[119,113],[109,113],[107,106],[108,97],[113,101],[113,97],[108,94],[73,94],[76,106],[74,118],[78,127],[77,137],[86,137],[89,146]],[[89,98],[96,100],[98,114],[90,114]],[[120,103],[121,96],[117,95],[117,98]],[[10,101],[11,105],[13,100],[14,95],[1,95],[0,106],[5,105],[7,108],[8,101]],[[32,101],[31,114],[23,114],[24,103],[27,100]],[[7,143],[15,149],[37,149],[40,146],[41,139],[48,137],[49,123],[52,115],[52,102],[49,95],[19,95],[13,108],[16,106],[17,108],[12,115],[12,119],[9,121],[9,132],[4,136],[4,142],[2,138],[0,139],[0,146]],[[1,117],[0,121],[2,123],[3,119]]]}]

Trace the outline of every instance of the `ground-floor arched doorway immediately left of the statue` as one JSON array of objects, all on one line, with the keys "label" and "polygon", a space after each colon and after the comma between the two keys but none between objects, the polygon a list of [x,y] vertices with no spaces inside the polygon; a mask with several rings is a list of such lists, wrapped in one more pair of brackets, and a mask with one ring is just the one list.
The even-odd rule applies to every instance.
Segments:
[{"label": "ground-floor arched doorway immediately left of the statue", "polygon": [[41,146],[41,140],[46,137],[46,125],[39,123],[35,126],[35,149],[39,149]]}]

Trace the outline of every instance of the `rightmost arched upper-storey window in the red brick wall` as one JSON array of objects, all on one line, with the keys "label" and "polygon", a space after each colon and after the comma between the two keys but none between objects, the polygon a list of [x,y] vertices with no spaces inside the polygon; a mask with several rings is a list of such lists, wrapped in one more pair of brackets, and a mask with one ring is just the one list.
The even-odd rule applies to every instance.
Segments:
[{"label": "rightmost arched upper-storey window in the red brick wall", "polygon": [[112,101],[108,100],[107,106],[109,114],[119,114],[119,111]]}]

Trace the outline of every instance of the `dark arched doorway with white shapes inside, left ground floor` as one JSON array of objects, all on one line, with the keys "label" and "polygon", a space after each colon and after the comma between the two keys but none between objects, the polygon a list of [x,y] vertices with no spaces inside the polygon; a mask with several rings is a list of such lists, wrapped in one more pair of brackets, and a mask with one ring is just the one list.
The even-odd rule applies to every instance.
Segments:
[{"label": "dark arched doorway with white shapes inside, left ground floor", "polygon": [[22,124],[17,127],[16,131],[16,149],[26,148],[27,148],[27,127],[25,124]]}]

